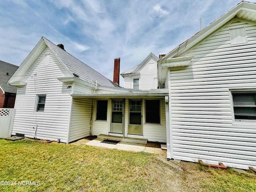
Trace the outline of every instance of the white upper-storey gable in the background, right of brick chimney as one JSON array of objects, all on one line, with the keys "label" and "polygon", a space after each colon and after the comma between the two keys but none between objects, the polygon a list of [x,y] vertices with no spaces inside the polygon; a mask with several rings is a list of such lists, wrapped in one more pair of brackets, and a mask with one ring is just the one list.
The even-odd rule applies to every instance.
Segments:
[{"label": "white upper-storey gable in the background, right of brick chimney", "polygon": [[158,88],[158,57],[150,53],[139,65],[121,73],[124,88],[150,90]]}]

